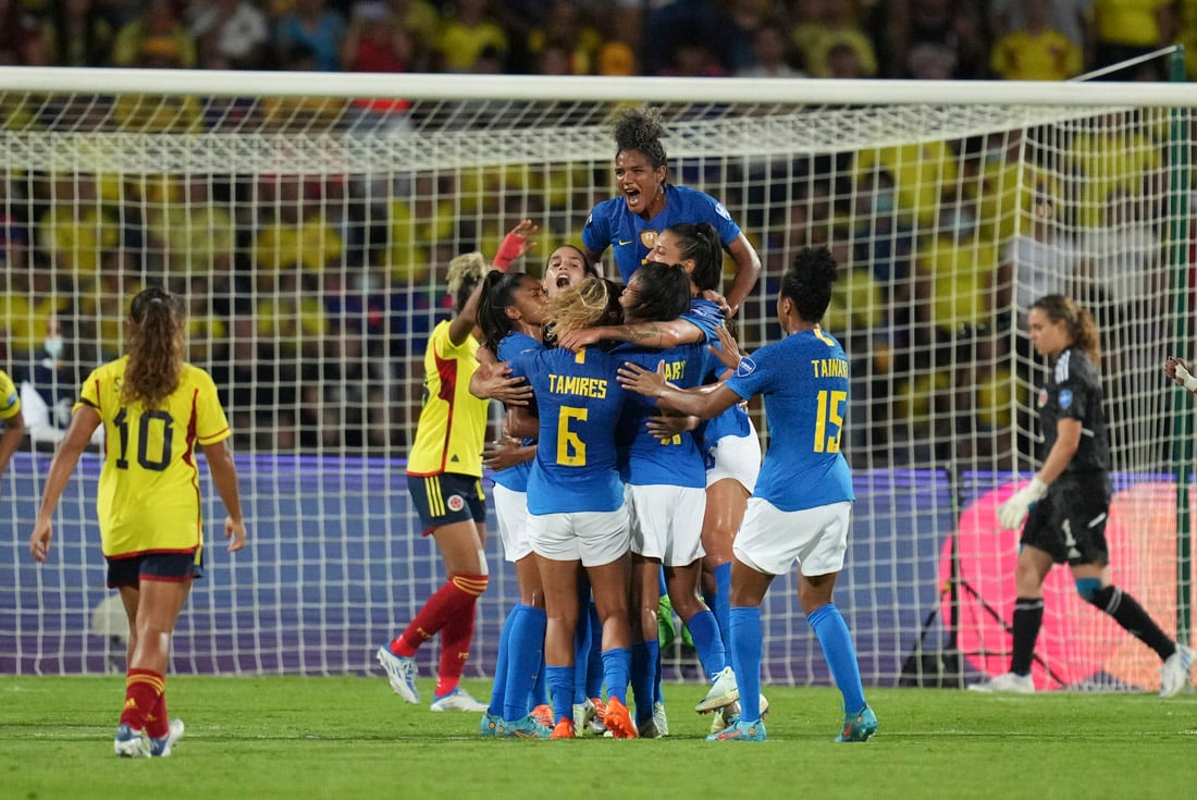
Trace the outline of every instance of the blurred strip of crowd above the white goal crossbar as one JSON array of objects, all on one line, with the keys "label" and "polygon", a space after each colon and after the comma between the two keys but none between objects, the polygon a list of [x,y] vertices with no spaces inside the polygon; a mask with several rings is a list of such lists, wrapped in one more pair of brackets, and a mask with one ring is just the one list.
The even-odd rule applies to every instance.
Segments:
[{"label": "blurred strip of crowd above the white goal crossbar", "polygon": [[1061,80],[1172,43],[1197,2],[0,0],[31,66]]}]

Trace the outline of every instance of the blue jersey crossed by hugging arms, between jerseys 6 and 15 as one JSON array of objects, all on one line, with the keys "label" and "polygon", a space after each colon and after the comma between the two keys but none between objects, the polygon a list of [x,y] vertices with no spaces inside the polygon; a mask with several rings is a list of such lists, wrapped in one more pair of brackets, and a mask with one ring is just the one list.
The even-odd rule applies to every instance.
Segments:
[{"label": "blue jersey crossed by hugging arms, between jerseys 6 and 15", "polygon": [[[654,371],[664,362],[666,380],[683,389],[700,386],[711,376],[711,357],[706,353],[705,343],[669,350],[639,350],[622,345],[613,350],[612,354]],[[630,443],[620,447],[620,474],[624,483],[636,486],[705,489],[706,468],[693,435],[682,431],[662,442],[645,428],[648,419],[660,413],[652,398],[638,394],[628,396],[619,428],[621,434],[631,437]]]}]

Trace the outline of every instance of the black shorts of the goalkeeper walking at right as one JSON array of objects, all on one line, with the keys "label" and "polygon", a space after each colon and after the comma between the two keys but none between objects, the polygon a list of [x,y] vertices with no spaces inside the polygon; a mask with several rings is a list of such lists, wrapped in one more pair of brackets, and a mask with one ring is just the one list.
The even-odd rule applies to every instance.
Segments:
[{"label": "black shorts of the goalkeeper walking at right", "polygon": [[1057,480],[1027,515],[1021,544],[1051,553],[1057,564],[1105,566],[1108,516],[1108,479]]}]

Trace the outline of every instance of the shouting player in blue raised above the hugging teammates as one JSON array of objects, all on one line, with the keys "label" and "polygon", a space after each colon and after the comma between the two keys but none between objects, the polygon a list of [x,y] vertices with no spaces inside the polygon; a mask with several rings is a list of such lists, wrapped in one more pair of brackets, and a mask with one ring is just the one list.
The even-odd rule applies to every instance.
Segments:
[{"label": "shouting player in blue raised above the hugging teammates", "polygon": [[587,260],[597,262],[608,247],[626,283],[652,249],[657,234],[673,223],[707,222],[719,232],[736,262],[727,292],[731,315],[752,292],[760,275],[760,256],[718,200],[695,189],[669,183],[664,123],[660,109],[624,109],[613,128],[615,181],[620,198],[596,205],[582,231]]}]

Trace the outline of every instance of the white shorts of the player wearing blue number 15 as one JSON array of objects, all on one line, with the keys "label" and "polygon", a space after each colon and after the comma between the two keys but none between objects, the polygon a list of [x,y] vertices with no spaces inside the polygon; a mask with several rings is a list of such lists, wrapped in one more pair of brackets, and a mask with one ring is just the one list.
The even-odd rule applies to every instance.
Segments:
[{"label": "white shorts of the player wearing blue number 15", "polygon": [[748,498],[748,510],[731,552],[758,572],[784,575],[794,562],[807,576],[844,569],[852,503],[782,511],[768,501]]}]

